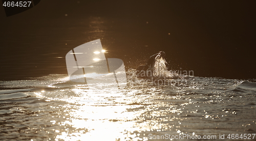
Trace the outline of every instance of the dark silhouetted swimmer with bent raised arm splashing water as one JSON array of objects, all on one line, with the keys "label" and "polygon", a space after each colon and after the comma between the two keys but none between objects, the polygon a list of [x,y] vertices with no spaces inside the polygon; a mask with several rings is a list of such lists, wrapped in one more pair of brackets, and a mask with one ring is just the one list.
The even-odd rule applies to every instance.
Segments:
[{"label": "dark silhouetted swimmer with bent raised arm splashing water", "polygon": [[139,77],[139,78],[147,78],[148,76],[147,75],[145,76],[145,72],[146,72],[146,70],[151,69],[154,66],[155,59],[157,57],[164,58],[165,57],[165,52],[160,51],[159,53],[152,55],[150,57],[150,59],[148,59],[148,61],[146,62],[145,65],[138,66],[136,68],[136,76]]}]

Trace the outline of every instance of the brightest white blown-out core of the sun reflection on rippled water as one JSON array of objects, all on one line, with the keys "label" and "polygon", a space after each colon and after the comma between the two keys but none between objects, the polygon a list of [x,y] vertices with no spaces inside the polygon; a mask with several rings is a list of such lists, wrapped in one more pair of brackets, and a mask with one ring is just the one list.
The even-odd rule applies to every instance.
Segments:
[{"label": "brightest white blown-out core of the sun reflection on rippled water", "polygon": [[[140,107],[139,105],[122,104],[125,97],[122,93],[105,93],[95,90],[74,88],[79,98],[68,102],[79,103],[77,109],[69,113],[71,119],[66,124],[76,129],[84,129],[80,134],[68,134],[62,132],[58,139],[64,140],[115,140],[116,138],[125,138],[124,131],[133,127],[134,119],[141,113],[128,112],[126,109]],[[104,91],[104,90],[103,90]],[[109,99],[109,100],[108,100]],[[111,99],[115,99],[115,102]],[[116,103],[116,104],[115,104]]]}]

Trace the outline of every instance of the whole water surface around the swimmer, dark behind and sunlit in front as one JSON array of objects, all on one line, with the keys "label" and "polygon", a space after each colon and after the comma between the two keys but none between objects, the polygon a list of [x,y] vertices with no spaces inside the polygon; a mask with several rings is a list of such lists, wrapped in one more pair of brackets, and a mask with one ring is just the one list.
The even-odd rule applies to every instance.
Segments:
[{"label": "whole water surface around the swimmer, dark behind and sunlit in front", "polygon": [[[41,1],[0,13],[0,140],[256,140],[254,7]],[[69,81],[66,54],[96,39],[106,58],[123,60],[124,89]],[[128,71],[160,50],[169,69],[195,76],[174,74],[164,85]]]}]

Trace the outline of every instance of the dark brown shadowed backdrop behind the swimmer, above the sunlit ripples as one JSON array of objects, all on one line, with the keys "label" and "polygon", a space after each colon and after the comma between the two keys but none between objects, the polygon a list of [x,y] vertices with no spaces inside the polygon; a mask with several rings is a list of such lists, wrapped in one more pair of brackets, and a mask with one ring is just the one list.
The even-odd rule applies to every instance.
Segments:
[{"label": "dark brown shadowed backdrop behind the swimmer, above the sunlit ripples", "polygon": [[169,69],[256,78],[256,1],[41,1],[6,17],[0,6],[0,80],[67,74],[66,54],[101,39],[126,69],[164,51]]}]

